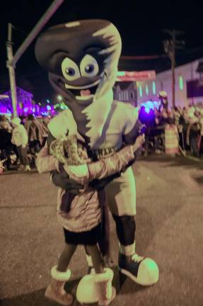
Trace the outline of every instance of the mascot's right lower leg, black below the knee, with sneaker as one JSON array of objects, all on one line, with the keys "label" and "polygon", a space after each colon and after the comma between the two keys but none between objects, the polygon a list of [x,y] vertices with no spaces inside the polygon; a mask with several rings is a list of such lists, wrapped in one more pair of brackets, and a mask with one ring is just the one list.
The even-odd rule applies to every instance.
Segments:
[{"label": "mascot's right lower leg, black below the knee, with sneaker", "polygon": [[139,285],[153,285],[158,281],[158,266],[148,257],[138,256],[135,252],[135,220],[133,216],[112,215],[120,241],[118,265],[120,272],[129,276]]}]

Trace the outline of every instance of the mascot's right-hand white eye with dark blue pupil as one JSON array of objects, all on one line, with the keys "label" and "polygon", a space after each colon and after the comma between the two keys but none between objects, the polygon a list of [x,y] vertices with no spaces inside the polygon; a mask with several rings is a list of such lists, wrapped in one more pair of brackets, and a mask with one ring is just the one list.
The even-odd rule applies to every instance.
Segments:
[{"label": "mascot's right-hand white eye with dark blue pupil", "polygon": [[82,77],[95,77],[98,74],[98,62],[91,55],[86,55],[80,64]]}]

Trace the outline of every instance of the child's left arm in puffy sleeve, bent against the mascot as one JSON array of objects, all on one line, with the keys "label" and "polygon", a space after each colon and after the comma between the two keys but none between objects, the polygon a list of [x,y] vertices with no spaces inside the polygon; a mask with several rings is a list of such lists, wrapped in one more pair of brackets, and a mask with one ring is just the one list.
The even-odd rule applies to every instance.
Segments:
[{"label": "child's left arm in puffy sleeve, bent against the mascot", "polygon": [[58,160],[55,157],[52,157],[48,151],[49,149],[45,145],[37,155],[36,167],[40,174],[59,169]]}]

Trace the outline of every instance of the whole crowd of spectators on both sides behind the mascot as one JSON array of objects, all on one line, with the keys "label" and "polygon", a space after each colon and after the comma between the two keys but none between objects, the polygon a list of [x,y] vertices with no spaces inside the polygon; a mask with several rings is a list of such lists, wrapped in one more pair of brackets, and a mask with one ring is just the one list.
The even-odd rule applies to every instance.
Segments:
[{"label": "whole crowd of spectators on both sides behind the mascot", "polygon": [[[178,139],[178,150],[200,158],[203,154],[203,104],[198,106],[156,108],[146,112],[139,109],[139,120],[146,125],[143,154],[166,152],[166,126],[173,126]],[[0,116],[0,171],[16,169],[30,171],[35,157],[45,145],[50,117],[13,118]]]}]

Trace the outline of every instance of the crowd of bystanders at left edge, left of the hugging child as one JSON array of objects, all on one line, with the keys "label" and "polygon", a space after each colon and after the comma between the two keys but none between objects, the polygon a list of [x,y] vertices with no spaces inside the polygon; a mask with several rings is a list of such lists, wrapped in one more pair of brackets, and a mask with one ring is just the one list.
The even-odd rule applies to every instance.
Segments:
[{"label": "crowd of bystanders at left edge, left of the hugging child", "polygon": [[10,119],[0,116],[0,172],[9,169],[30,171],[35,158],[45,145],[49,117],[28,117]]}]

